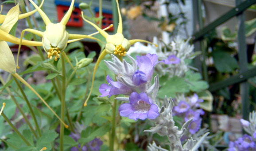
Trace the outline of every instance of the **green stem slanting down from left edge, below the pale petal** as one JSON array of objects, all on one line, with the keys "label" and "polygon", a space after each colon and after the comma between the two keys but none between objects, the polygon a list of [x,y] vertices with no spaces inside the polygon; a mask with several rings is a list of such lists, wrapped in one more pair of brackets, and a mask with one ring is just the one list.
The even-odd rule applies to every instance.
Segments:
[{"label": "green stem slanting down from left edge, below the pale petal", "polygon": [[[2,82],[3,85],[5,85],[5,81],[3,79],[2,76],[0,76],[0,81]],[[13,102],[16,104],[16,106],[18,107],[19,112],[22,114],[24,120],[26,121],[27,125],[29,126],[29,128],[31,129],[32,133],[35,135],[35,138],[37,138],[37,134],[35,133],[35,130],[33,129],[33,126],[31,125],[31,123],[29,122],[26,114],[23,112],[22,108],[20,107],[19,103],[17,102],[17,100],[15,99],[15,97],[12,95],[12,91],[10,90],[10,88],[6,87],[7,92],[9,93],[9,95],[11,96]]]}]

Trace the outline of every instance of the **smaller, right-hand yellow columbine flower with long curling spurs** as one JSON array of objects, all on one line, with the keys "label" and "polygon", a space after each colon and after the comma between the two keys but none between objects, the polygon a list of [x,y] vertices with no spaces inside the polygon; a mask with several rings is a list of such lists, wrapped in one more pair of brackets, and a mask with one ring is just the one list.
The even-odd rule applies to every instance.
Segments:
[{"label": "smaller, right-hand yellow columbine flower with long curling spurs", "polygon": [[[99,28],[93,22],[90,22],[89,20],[85,19],[83,17],[83,12],[81,12],[82,18],[86,22],[91,24],[94,28],[96,28],[101,33],[101,35],[106,38],[106,41],[107,41],[106,47],[105,47],[104,51],[101,53],[101,55],[99,56],[97,63],[94,67],[92,86],[91,86],[89,95],[88,95],[87,99],[85,100],[84,106],[87,105],[87,101],[89,100],[89,97],[92,93],[96,71],[98,69],[98,66],[99,66],[101,60],[105,57],[105,55],[107,55],[108,53],[113,53],[113,54],[119,56],[120,58],[122,58],[123,56],[125,56],[127,51],[130,49],[131,45],[135,44],[136,42],[146,42],[146,43],[152,44],[149,41],[144,41],[144,40],[140,40],[140,39],[133,39],[133,40],[128,41],[126,38],[124,38],[123,23],[122,23],[122,17],[121,17],[121,13],[120,13],[118,0],[116,0],[116,4],[117,4],[117,9],[118,9],[119,25],[117,27],[117,33],[114,35],[109,35],[107,32],[105,32],[104,30]],[[157,46],[157,44],[155,44],[155,45]]]}]

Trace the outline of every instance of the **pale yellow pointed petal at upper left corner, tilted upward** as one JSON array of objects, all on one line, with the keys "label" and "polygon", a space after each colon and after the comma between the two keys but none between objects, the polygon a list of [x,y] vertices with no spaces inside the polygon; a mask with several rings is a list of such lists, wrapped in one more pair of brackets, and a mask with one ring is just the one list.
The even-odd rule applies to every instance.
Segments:
[{"label": "pale yellow pointed petal at upper left corner, tilted upward", "polygon": [[3,24],[0,26],[4,32],[9,33],[14,24],[18,21],[19,17],[19,4],[15,7],[12,7],[10,11],[8,11],[6,18],[4,19]]}]

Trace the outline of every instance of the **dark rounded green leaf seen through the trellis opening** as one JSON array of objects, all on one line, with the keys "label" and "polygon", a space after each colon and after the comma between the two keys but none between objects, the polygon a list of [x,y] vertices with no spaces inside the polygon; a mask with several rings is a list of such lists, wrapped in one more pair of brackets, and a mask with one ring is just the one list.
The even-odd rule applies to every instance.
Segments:
[{"label": "dark rounded green leaf seen through the trellis opening", "polygon": [[227,52],[213,51],[214,65],[219,72],[230,73],[237,69],[237,60]]}]

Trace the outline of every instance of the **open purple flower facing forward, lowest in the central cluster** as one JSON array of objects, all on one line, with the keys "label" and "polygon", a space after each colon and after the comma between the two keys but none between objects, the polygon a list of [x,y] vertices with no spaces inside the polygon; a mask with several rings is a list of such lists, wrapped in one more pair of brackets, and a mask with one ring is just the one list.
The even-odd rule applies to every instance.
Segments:
[{"label": "open purple flower facing forward, lowest in the central cluster", "polygon": [[132,92],[130,103],[120,105],[119,112],[121,116],[128,117],[137,121],[146,118],[155,119],[159,116],[158,106],[147,96],[145,92]]}]

